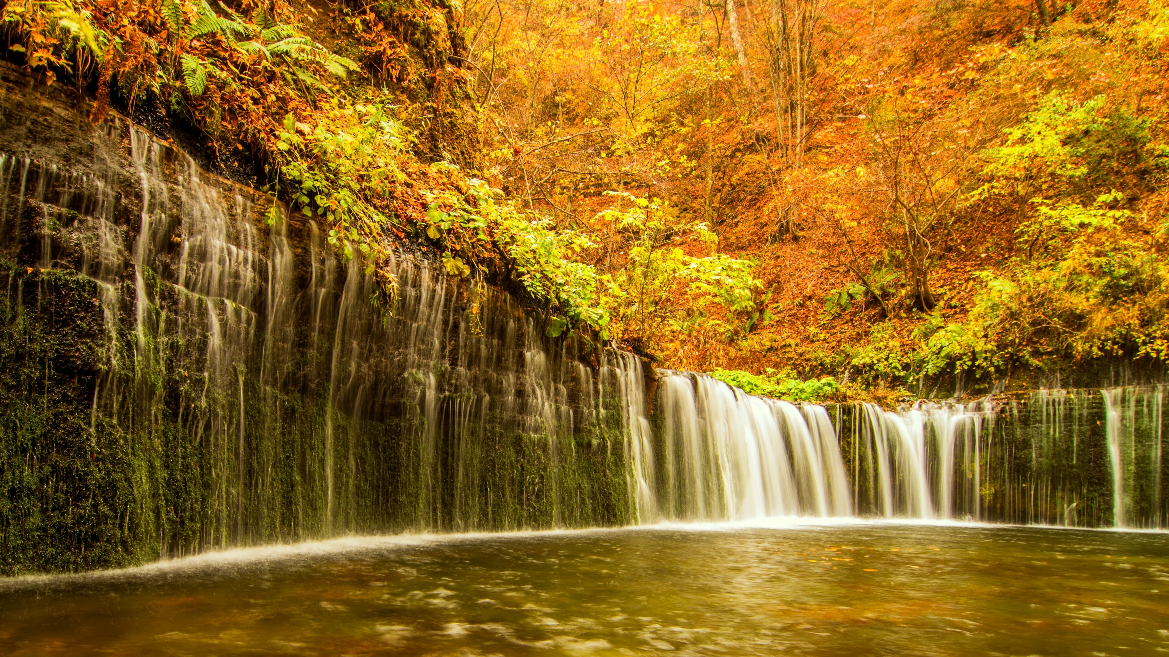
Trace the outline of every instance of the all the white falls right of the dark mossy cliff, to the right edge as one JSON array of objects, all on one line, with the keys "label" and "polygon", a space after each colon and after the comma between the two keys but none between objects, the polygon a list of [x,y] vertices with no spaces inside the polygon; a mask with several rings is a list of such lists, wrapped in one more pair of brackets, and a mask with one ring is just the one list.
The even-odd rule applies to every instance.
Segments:
[{"label": "all the white falls right of the dark mossy cliff, to the right edge", "polygon": [[1024,402],[836,408],[664,372],[658,434],[631,462],[637,517],[859,516],[1169,527],[1164,387],[1040,390]]}]

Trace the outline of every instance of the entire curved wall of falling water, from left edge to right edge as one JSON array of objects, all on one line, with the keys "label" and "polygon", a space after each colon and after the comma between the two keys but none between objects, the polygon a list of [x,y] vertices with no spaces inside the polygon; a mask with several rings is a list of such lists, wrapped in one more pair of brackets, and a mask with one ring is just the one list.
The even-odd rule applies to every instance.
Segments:
[{"label": "entire curved wall of falling water, from left edge to right edge", "polygon": [[312,220],[265,223],[267,196],[133,125],[85,139],[0,154],[7,572],[352,532],[1169,526],[1162,387],[830,413],[548,340],[406,253],[382,314]]}]

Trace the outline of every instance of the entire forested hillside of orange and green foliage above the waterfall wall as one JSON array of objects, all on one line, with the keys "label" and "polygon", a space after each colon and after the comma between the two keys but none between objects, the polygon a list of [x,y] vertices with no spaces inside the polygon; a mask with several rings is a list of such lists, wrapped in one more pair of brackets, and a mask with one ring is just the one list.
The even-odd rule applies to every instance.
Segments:
[{"label": "entire forested hillside of orange and green foliage above the waterfall wall", "polygon": [[[1169,360],[1169,8],[9,1],[6,57],[549,337],[793,399]],[[279,221],[274,213],[271,221]],[[470,312],[477,305],[471,299]],[[831,379],[825,379],[831,378]]]}]

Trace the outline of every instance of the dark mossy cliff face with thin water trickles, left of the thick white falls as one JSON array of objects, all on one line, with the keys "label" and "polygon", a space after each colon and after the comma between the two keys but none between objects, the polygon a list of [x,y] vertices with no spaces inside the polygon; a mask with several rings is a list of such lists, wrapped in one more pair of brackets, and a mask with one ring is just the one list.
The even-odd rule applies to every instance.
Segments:
[{"label": "dark mossy cliff face with thin water trickles, left of the thick white falls", "polygon": [[628,518],[634,364],[406,254],[376,310],[312,221],[0,75],[0,573]]}]

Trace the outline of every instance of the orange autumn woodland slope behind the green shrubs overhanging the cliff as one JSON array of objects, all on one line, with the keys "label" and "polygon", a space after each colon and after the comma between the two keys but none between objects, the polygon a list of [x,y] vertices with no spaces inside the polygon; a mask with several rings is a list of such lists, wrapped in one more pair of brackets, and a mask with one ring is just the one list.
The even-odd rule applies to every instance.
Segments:
[{"label": "orange autumn woodland slope behind the green shrubs overhanging the cliff", "polygon": [[602,267],[608,188],[758,263],[758,307],[644,337],[666,362],[928,394],[1164,361],[1160,5],[607,7],[482,5],[472,89],[491,173]]}]

